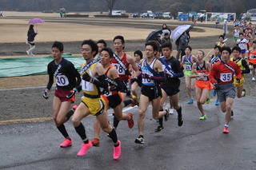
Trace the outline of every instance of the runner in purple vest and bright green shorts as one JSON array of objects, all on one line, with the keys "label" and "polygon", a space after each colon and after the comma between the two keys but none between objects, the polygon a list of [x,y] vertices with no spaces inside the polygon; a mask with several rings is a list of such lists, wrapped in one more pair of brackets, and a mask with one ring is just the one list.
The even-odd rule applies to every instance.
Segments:
[{"label": "runner in purple vest and bright green shorts", "polygon": [[198,59],[192,55],[192,48],[190,47],[190,45],[186,46],[185,49],[185,53],[186,55],[184,55],[182,57],[182,65],[186,65],[186,71],[185,71],[185,82],[186,82],[186,91],[190,97],[190,101],[188,101],[188,104],[193,104],[194,103],[194,99],[193,99],[193,95],[192,95],[192,91],[194,91],[195,88],[195,79],[190,79],[190,72],[192,69],[192,65],[194,64],[194,62],[198,61]]}]

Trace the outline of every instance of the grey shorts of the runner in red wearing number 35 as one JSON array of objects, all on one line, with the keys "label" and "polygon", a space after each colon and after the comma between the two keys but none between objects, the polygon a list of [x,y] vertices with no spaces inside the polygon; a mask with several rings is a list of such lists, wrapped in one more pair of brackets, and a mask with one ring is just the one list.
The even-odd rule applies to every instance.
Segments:
[{"label": "grey shorts of the runner in red wearing number 35", "polygon": [[219,102],[226,101],[227,97],[235,97],[235,88],[233,83],[220,84],[217,90]]}]

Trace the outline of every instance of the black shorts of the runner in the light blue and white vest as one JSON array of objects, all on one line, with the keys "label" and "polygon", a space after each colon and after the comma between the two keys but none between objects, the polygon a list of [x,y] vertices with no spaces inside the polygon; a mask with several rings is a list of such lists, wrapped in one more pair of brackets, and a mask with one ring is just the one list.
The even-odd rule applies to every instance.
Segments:
[{"label": "black shorts of the runner in the light blue and white vest", "polygon": [[162,92],[159,86],[142,85],[142,94],[149,97],[150,101],[162,97]]}]

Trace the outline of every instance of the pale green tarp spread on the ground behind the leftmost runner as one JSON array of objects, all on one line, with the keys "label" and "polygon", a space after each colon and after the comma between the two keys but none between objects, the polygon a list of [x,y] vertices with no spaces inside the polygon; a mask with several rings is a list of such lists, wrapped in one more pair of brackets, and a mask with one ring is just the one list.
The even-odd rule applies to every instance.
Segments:
[{"label": "pale green tarp spread on the ground behind the leftmost runner", "polygon": [[[74,67],[81,69],[85,60],[82,57],[63,54],[74,64]],[[28,75],[40,75],[47,73],[47,65],[53,61],[53,57],[20,57],[20,58],[0,58],[0,77],[18,77]]]}]

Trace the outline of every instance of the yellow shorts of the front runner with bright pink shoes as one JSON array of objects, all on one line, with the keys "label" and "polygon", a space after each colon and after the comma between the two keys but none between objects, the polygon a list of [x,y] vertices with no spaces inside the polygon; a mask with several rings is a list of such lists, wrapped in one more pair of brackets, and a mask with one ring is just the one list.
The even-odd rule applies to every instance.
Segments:
[{"label": "yellow shorts of the front runner with bright pink shoes", "polygon": [[89,112],[94,116],[100,115],[105,109],[102,97],[95,99],[89,97],[82,97],[82,103],[87,106]]}]

